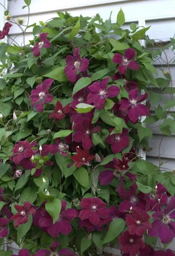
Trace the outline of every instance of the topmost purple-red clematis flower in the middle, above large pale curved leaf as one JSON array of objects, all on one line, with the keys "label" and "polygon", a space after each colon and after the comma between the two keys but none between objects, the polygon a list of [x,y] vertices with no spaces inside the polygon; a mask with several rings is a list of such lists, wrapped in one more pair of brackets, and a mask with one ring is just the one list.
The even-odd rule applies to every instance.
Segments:
[{"label": "topmost purple-red clematis flower in the middle, above large pale curved leaf", "polygon": [[80,56],[80,47],[73,51],[73,56],[66,56],[66,67],[64,69],[68,80],[73,83],[77,78],[77,71],[86,72],[89,66],[89,60]]}]

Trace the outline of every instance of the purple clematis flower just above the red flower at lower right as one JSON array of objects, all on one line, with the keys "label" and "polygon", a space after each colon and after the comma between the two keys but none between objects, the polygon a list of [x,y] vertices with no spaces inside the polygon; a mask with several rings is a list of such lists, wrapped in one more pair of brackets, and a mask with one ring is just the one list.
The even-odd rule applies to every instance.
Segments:
[{"label": "purple clematis flower just above the red flower at lower right", "polygon": [[130,190],[125,190],[123,185],[121,184],[117,191],[119,192],[119,196],[124,199],[118,206],[118,210],[121,212],[126,212],[130,210],[130,207],[137,206],[141,211],[145,210],[145,201],[141,198],[142,193],[136,194],[137,185],[134,183],[129,187]]}]

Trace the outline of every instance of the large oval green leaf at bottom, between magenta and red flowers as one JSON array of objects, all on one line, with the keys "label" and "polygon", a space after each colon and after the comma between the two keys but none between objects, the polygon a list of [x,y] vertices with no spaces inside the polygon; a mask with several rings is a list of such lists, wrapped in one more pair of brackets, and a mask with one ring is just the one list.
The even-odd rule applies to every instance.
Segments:
[{"label": "large oval green leaf at bottom, between magenta and red flowers", "polygon": [[119,234],[122,233],[124,227],[125,221],[123,219],[117,218],[111,221],[107,234],[104,237],[103,244],[107,244],[118,237]]}]

